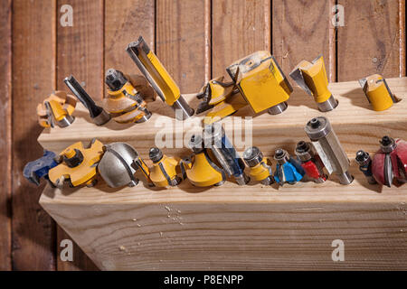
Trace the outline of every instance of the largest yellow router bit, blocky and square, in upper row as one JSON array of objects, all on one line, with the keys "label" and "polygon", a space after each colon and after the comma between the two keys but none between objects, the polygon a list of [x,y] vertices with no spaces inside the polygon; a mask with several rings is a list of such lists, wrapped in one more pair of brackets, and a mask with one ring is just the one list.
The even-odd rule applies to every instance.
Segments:
[{"label": "largest yellow router bit, blocky and square, in upper row", "polygon": [[269,51],[257,51],[226,68],[254,113],[277,115],[288,107],[289,80]]}]

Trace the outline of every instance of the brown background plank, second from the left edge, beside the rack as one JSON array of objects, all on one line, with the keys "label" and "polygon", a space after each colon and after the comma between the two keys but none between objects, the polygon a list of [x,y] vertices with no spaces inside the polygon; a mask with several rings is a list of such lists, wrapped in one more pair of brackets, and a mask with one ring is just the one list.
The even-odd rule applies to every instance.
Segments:
[{"label": "brown background plank, second from the left edge, beside the rack", "polygon": [[23,177],[43,154],[36,106],[55,89],[55,1],[13,1],[13,269],[55,269],[55,225]]}]

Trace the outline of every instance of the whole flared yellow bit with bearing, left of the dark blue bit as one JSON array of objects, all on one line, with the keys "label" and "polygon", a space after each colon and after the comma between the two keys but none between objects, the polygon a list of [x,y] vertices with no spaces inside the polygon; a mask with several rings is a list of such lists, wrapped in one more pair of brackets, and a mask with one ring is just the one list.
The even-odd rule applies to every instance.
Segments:
[{"label": "whole flared yellow bit with bearing, left of the dark blue bit", "polygon": [[189,146],[194,152],[191,158],[181,161],[184,179],[187,178],[194,186],[220,186],[225,182],[226,175],[209,157],[202,135],[192,135]]}]

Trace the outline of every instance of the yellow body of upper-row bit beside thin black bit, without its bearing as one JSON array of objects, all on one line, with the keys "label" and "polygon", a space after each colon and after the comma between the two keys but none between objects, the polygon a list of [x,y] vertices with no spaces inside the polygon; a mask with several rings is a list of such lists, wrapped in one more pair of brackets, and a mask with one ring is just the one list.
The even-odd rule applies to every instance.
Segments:
[{"label": "yellow body of upper-row bit beside thin black bit, without its bearing", "polygon": [[137,89],[129,81],[116,91],[108,89],[108,97],[103,99],[103,107],[111,114],[113,120],[120,124],[137,122],[146,115],[143,109],[140,109],[147,107],[146,101],[142,100],[138,103],[127,94],[137,95]]}]

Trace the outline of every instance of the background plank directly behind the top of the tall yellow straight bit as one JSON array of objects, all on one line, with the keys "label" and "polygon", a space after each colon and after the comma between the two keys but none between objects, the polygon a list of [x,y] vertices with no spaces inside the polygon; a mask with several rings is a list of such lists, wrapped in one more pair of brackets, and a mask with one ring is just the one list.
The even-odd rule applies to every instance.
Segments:
[{"label": "background plank directly behind the top of the tall yellow straight bit", "polygon": [[105,2],[105,70],[114,68],[140,74],[126,48],[142,35],[155,49],[155,1],[123,0]]}]

